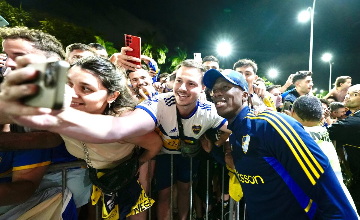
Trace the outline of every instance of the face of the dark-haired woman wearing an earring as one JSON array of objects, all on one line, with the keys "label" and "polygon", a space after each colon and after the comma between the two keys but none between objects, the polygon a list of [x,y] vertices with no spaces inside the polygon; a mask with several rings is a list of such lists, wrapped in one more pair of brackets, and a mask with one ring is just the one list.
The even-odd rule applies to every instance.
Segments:
[{"label": "face of the dark-haired woman wearing an earring", "polygon": [[72,88],[70,107],[91,114],[102,114],[106,106],[116,99],[109,95],[100,79],[91,71],[73,66],[68,72],[67,84]]}]

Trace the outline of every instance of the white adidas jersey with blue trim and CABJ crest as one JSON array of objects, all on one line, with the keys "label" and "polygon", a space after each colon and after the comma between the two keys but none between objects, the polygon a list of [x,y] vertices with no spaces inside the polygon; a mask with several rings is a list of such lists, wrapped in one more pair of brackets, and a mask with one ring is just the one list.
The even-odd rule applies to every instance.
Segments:
[{"label": "white adidas jersey with blue trim and CABJ crest", "polygon": [[[179,146],[179,128],[177,127],[176,104],[174,93],[162,93],[144,100],[136,106],[145,110],[153,118],[156,132],[163,141],[162,151],[168,154],[181,154]],[[186,142],[192,143],[199,139],[209,128],[219,129],[226,119],[217,114],[215,105],[199,100],[194,112],[189,117],[181,117]]]}]

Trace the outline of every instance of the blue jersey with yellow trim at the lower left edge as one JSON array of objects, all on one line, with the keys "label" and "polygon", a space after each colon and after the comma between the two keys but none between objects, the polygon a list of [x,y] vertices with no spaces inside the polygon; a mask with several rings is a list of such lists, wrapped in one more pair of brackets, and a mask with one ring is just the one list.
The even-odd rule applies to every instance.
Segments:
[{"label": "blue jersey with yellow trim at the lower left edge", "polygon": [[13,171],[49,165],[50,160],[51,149],[1,151],[0,183],[11,182],[11,177],[3,177]]}]

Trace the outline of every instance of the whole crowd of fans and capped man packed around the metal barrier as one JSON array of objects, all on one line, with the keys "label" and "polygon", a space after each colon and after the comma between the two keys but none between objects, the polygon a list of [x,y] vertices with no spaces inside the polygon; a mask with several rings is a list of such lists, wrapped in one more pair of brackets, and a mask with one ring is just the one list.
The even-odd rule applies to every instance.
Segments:
[{"label": "whole crowd of fans and capped man packed around the metal barrier", "polygon": [[[158,220],[171,210],[216,220],[230,197],[249,220],[360,219],[360,84],[350,76],[319,99],[312,72],[269,84],[250,59],[220,69],[210,55],[159,74],[130,47],[64,50],[26,27],[0,38],[0,220],[95,219],[97,202],[107,220],[145,220],[150,207]],[[50,94],[27,65],[59,60],[70,65],[63,108],[24,104]],[[87,167],[65,177],[47,170],[77,160]]]}]

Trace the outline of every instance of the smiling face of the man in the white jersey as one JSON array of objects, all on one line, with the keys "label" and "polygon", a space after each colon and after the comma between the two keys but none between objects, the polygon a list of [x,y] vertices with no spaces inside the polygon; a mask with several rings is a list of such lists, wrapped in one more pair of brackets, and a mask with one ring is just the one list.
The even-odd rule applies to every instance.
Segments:
[{"label": "smiling face of the man in the white jersey", "polygon": [[201,72],[192,67],[181,66],[176,72],[172,88],[177,106],[194,109],[200,93],[205,89]]}]

